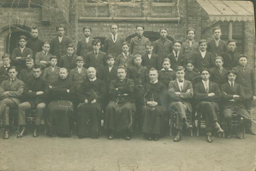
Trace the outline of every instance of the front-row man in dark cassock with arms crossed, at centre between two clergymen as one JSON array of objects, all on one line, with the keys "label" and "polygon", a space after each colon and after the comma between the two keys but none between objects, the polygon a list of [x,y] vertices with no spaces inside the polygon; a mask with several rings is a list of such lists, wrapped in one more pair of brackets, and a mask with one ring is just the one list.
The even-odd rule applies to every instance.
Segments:
[{"label": "front-row man in dark cassock with arms crossed, at centre between two clergymen", "polygon": [[108,139],[114,138],[114,132],[120,132],[125,140],[130,140],[133,115],[136,112],[133,95],[134,81],[126,78],[126,69],[117,68],[117,79],[110,82],[111,102],[105,110],[105,128],[109,131]]}]

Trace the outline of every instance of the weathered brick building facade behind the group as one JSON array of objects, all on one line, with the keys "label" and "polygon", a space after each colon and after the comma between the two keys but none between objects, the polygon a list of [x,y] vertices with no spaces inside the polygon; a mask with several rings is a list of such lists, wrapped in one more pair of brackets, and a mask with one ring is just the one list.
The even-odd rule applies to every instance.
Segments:
[{"label": "weathered brick building facade behind the group", "polygon": [[[18,36],[30,36],[30,28],[37,25],[39,38],[50,41],[57,36],[55,27],[66,26],[65,34],[77,44],[83,37],[82,28],[89,25],[91,37],[104,41],[110,35],[110,24],[119,25],[119,34],[129,41],[135,36],[135,26],[145,26],[144,36],[150,41],[159,39],[159,29],[167,28],[170,40],[186,39],[186,29],[196,29],[195,40],[212,39],[212,28],[222,28],[222,39],[227,40],[229,21],[233,23],[233,39],[237,50],[249,56],[255,67],[255,21],[246,16],[241,20],[211,20],[202,0],[14,0],[5,1],[0,10],[0,56],[18,47]],[[216,0],[208,0],[214,5]],[[246,10],[253,12],[253,4],[246,2]],[[216,5],[216,4],[215,4]],[[250,9],[251,5],[251,9]],[[241,5],[240,5],[241,6]],[[231,8],[230,8],[231,9]],[[230,10],[228,9],[228,10]],[[227,9],[223,9],[227,10]]]}]

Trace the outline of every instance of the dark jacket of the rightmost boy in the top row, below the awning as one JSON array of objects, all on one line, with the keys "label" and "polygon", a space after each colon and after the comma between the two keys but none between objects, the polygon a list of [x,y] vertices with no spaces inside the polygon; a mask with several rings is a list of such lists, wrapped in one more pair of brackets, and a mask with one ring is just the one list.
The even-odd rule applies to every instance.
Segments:
[{"label": "dark jacket of the rightmost boy in the top row, below the awning", "polygon": [[218,47],[216,46],[215,40],[208,42],[207,52],[212,53],[214,57],[221,56],[223,52],[227,51],[227,43],[223,40],[219,41]]}]

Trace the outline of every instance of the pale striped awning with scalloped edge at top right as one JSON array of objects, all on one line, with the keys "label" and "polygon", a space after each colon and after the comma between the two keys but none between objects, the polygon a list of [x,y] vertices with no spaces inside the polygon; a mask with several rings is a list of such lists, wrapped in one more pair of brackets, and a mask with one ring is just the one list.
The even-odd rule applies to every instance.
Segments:
[{"label": "pale striped awning with scalloped edge at top right", "polygon": [[208,13],[210,21],[253,21],[251,1],[239,0],[196,0]]}]

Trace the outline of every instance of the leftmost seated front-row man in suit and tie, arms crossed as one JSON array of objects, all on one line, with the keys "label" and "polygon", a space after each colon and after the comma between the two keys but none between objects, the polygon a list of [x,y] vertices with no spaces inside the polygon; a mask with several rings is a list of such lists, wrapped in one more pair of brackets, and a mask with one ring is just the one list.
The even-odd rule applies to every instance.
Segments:
[{"label": "leftmost seated front-row man in suit and tie, arms crossed", "polygon": [[9,113],[20,104],[20,99],[25,87],[25,83],[20,81],[16,67],[11,66],[7,69],[9,79],[4,80],[0,85],[0,116],[3,117],[4,136],[3,139],[9,138]]}]

